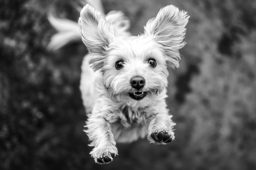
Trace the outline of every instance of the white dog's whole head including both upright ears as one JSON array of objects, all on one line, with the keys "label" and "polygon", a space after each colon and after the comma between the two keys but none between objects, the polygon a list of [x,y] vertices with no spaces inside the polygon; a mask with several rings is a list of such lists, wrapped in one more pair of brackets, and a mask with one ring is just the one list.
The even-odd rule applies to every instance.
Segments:
[{"label": "white dog's whole head including both upright ears", "polygon": [[144,34],[123,37],[90,5],[82,9],[79,26],[91,67],[101,70],[112,98],[133,107],[150,105],[167,87],[167,66],[179,67],[188,19],[169,5],[147,22]]}]

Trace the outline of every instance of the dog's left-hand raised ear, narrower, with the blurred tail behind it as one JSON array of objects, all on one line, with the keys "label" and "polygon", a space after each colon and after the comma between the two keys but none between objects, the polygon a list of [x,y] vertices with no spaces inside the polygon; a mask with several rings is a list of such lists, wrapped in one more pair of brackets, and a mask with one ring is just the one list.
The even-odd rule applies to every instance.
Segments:
[{"label": "dog's left-hand raised ear, narrower, with the blurred tail behind it", "polygon": [[108,45],[117,35],[114,27],[106,18],[89,4],[85,5],[78,21],[82,41],[92,55],[89,60],[94,71],[99,70],[106,58]]}]

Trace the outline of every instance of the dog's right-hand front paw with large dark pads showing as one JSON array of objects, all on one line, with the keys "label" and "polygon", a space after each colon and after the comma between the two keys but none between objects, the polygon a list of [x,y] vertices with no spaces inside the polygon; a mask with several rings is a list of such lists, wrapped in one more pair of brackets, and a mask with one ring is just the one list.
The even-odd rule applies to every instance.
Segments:
[{"label": "dog's right-hand front paw with large dark pads showing", "polygon": [[150,143],[154,144],[167,144],[174,139],[174,132],[173,131],[165,131],[165,130],[160,130],[160,131],[155,131],[150,134],[148,137],[148,140]]}]

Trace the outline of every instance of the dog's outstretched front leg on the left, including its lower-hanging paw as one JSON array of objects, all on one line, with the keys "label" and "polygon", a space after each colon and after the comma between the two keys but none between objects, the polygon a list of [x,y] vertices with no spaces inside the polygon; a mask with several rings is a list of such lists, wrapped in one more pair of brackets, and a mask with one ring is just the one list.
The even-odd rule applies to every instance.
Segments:
[{"label": "dog's outstretched front leg on the left, including its lower-hanging paw", "polygon": [[87,121],[87,130],[85,130],[90,141],[92,141],[91,146],[94,146],[90,155],[94,158],[94,161],[99,164],[110,163],[113,158],[118,155],[110,124],[103,116],[107,113],[103,112],[104,111],[101,111],[101,113],[92,113]]}]

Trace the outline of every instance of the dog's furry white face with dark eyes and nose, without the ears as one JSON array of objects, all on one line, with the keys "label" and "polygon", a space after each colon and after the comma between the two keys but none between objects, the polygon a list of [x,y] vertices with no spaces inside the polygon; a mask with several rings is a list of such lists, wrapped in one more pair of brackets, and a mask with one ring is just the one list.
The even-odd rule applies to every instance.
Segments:
[{"label": "dog's furry white face with dark eyes and nose, without the ears", "polygon": [[102,67],[110,95],[129,106],[150,105],[167,87],[167,65],[159,45],[147,37],[120,38],[109,45]]}]

